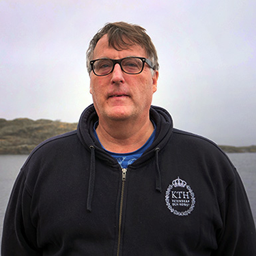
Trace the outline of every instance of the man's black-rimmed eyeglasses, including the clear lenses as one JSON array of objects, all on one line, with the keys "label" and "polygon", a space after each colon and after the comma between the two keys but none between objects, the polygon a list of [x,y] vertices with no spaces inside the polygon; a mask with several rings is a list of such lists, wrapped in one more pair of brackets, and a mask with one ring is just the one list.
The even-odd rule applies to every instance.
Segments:
[{"label": "man's black-rimmed eyeglasses, including the clear lenses", "polygon": [[113,72],[118,63],[126,74],[139,74],[143,71],[145,63],[154,70],[152,61],[143,57],[126,57],[123,59],[94,59],[90,61],[91,70],[96,76],[106,76]]}]

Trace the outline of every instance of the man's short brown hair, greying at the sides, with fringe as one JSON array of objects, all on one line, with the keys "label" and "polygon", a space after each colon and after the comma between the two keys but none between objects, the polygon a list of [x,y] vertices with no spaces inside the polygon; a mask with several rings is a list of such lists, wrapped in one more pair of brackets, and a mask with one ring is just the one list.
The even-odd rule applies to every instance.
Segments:
[{"label": "man's short brown hair, greying at the sides, with fringe", "polygon": [[98,43],[98,40],[100,40],[100,38],[106,34],[108,35],[109,46],[115,48],[117,51],[128,49],[134,44],[141,46],[145,49],[147,58],[152,61],[154,70],[159,69],[156,48],[150,36],[147,35],[146,30],[139,25],[117,22],[106,23],[106,25],[104,25],[104,27],[102,27],[102,29],[100,29],[96,35],[94,35],[94,38],[91,39],[86,53],[88,72],[91,72],[90,61],[93,58],[96,44]]}]

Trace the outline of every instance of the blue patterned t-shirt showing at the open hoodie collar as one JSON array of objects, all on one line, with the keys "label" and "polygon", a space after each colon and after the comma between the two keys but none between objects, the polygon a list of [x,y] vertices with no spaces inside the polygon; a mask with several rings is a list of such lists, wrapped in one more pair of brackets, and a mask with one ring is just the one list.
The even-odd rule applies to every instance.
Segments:
[{"label": "blue patterned t-shirt showing at the open hoodie collar", "polygon": [[[94,135],[100,143],[100,140],[99,140],[97,132],[96,132],[97,124],[98,124],[98,122],[96,124],[94,124]],[[154,122],[153,122],[153,124],[154,124]],[[110,152],[110,151],[106,150],[103,146],[102,147],[104,148],[104,150],[106,150],[106,152],[108,152],[111,156],[113,156],[113,158],[115,158],[117,160],[117,162],[119,162],[119,165],[122,168],[127,168],[128,165],[131,165],[132,162],[137,160],[145,152],[145,150],[147,150],[147,148],[150,147],[150,145],[152,145],[152,143],[155,139],[155,135],[156,135],[156,126],[154,124],[154,131],[152,132],[150,138],[147,140],[147,142],[142,147],[139,148],[139,150],[136,150],[134,152],[114,153],[114,152]],[[100,145],[102,145],[102,144],[100,143]]]}]

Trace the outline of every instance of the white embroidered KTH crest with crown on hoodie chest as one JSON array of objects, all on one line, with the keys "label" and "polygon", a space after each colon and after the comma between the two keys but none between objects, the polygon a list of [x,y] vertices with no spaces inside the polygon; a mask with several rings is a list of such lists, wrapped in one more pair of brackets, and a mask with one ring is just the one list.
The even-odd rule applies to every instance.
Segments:
[{"label": "white embroidered KTH crest with crown on hoodie chest", "polygon": [[184,180],[177,177],[167,188],[165,202],[173,214],[188,216],[195,208],[195,193]]}]

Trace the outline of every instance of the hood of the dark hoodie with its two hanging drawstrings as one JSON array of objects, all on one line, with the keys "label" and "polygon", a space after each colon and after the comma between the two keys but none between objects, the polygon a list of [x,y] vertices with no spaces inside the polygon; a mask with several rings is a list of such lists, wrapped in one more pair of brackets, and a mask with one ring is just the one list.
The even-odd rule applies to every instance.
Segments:
[{"label": "hood of the dark hoodie with its two hanging drawstrings", "polygon": [[[143,155],[132,163],[133,167],[139,167],[145,160],[156,157],[156,190],[162,192],[161,186],[161,171],[159,168],[159,154],[167,141],[169,141],[172,130],[173,121],[171,115],[159,106],[150,107],[150,119],[156,124],[156,136],[154,142],[150,147],[143,153]],[[110,156],[102,148],[96,137],[94,136],[94,124],[98,121],[98,115],[94,108],[94,104],[91,104],[83,111],[79,124],[77,127],[77,134],[79,140],[84,147],[91,152],[90,161],[90,174],[89,174],[89,186],[87,196],[87,210],[91,212],[91,201],[94,194],[94,183],[95,183],[95,161],[96,157],[108,162],[109,165],[117,165],[117,161]]]}]

